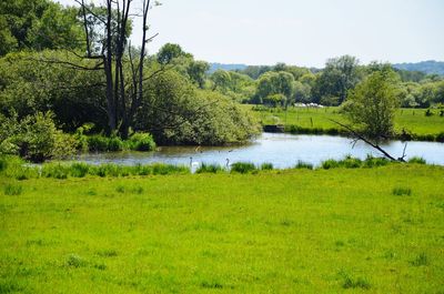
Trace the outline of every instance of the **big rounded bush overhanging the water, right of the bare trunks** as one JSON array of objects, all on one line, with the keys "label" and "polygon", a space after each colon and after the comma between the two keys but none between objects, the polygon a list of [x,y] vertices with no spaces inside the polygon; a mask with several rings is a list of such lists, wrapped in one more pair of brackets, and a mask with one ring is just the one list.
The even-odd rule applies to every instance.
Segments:
[{"label": "big rounded bush overhanging the water, right of the bare trunks", "polygon": [[144,93],[135,130],[160,144],[239,143],[259,132],[248,111],[218,92],[194,89],[176,72],[155,75]]}]

